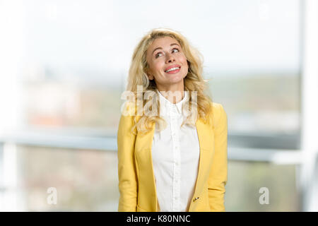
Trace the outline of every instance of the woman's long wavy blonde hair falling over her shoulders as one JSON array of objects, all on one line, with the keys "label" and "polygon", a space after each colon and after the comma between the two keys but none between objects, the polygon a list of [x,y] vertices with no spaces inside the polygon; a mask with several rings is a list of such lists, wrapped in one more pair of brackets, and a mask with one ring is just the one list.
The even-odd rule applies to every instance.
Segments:
[{"label": "woman's long wavy blonde hair falling over her shoulders", "polygon": [[[208,117],[208,113],[212,110],[212,100],[205,93],[205,90],[208,90],[206,85],[208,81],[205,81],[202,76],[203,57],[198,50],[196,50],[189,44],[188,40],[183,35],[175,30],[167,28],[155,28],[151,30],[141,39],[139,44],[134,49],[134,54],[131,59],[131,66],[129,68],[128,84],[126,88],[126,91],[134,93],[134,101],[130,102],[130,105],[132,104],[134,106],[133,108],[137,109],[137,85],[140,85],[139,88],[141,88],[142,85],[143,95],[141,99],[139,98],[139,102],[141,102],[142,100],[142,108],[146,105],[147,102],[147,105],[149,105],[149,102],[151,102],[151,109],[153,110],[153,107],[155,107],[157,109],[155,109],[154,112],[160,112],[160,102],[157,101],[158,99],[156,97],[150,98],[151,100],[145,100],[151,95],[151,93],[155,92],[155,90],[157,89],[155,80],[149,80],[147,76],[149,66],[146,59],[146,52],[153,41],[160,37],[172,37],[177,40],[184,52],[185,57],[187,58],[189,69],[187,76],[184,78],[184,91],[188,91],[189,93],[189,100],[187,100],[186,103],[188,106],[190,106],[191,113],[188,114],[182,125],[192,124],[195,126],[196,119],[198,119],[198,117],[203,118],[206,122],[206,117]],[[184,105],[182,105],[182,110],[183,109]],[[192,109],[196,110],[193,111]],[[136,113],[136,111],[134,111],[134,113]],[[150,131],[150,124],[154,122],[158,124],[158,131],[165,129],[165,127],[167,126],[165,120],[161,118],[159,114],[144,114],[143,112],[139,115],[134,114],[133,117],[134,126],[131,129],[131,132],[133,133],[136,133],[136,130],[141,133]]]}]

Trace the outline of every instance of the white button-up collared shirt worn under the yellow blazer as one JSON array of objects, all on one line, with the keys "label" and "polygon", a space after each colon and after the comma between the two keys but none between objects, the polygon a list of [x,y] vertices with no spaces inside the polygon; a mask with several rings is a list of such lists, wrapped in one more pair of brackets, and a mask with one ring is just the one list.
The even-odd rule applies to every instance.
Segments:
[{"label": "white button-up collared shirt worn under the yellow blazer", "polygon": [[155,131],[152,157],[158,211],[186,212],[194,195],[199,170],[199,138],[196,127],[184,124],[182,103],[184,98],[172,104],[160,92],[160,117],[167,122],[163,131]]}]

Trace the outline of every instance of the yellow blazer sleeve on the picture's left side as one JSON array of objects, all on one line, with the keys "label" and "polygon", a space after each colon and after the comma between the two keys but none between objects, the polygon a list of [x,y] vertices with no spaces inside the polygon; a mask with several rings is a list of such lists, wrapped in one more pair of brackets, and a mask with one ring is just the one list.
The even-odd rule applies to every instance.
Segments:
[{"label": "yellow blazer sleeve on the picture's left side", "polygon": [[136,212],[137,206],[138,179],[134,158],[136,136],[131,133],[133,120],[133,117],[122,114],[117,132],[119,212]]}]

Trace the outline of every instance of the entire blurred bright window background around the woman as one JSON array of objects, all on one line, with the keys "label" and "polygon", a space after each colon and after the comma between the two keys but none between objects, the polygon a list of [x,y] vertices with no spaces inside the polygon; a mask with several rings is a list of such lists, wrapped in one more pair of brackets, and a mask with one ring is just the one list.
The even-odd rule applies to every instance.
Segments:
[{"label": "entire blurred bright window background around the woman", "polygon": [[120,97],[160,27],[228,114],[225,209],[318,211],[317,1],[0,0],[1,211],[117,211]]}]

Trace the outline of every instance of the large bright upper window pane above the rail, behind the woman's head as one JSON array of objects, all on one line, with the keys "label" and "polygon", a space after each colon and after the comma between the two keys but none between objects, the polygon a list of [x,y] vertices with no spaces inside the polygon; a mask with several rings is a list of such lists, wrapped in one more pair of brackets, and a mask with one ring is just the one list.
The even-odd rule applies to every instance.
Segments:
[{"label": "large bright upper window pane above the rail, behind the woman's head", "polygon": [[[170,13],[167,4],[179,10]],[[19,62],[23,81],[23,122],[115,131],[134,47],[151,28],[167,27],[182,32],[203,54],[204,76],[213,100],[228,113],[230,133],[295,135],[300,130],[300,4],[23,2],[22,13],[13,17],[14,28],[24,32],[11,43],[20,47],[12,62]]]}]

